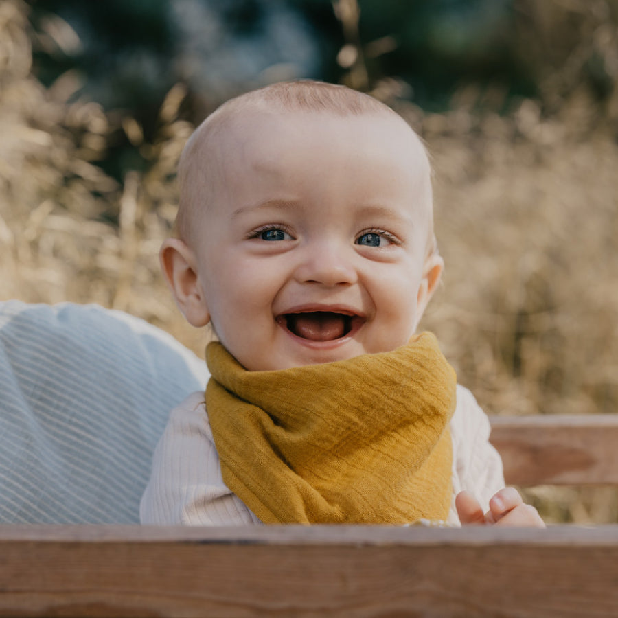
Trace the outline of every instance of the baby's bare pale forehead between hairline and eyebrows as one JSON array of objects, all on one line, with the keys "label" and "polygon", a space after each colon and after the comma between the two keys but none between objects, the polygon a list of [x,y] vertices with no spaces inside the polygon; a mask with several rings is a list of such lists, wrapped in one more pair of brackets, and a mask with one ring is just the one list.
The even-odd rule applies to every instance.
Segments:
[{"label": "baby's bare pale forehead between hairline and eyebrows", "polygon": [[[282,180],[299,181],[317,173],[333,179],[364,168],[374,172],[364,173],[365,180],[409,179],[415,190],[424,190],[429,183],[422,142],[390,111],[360,115],[250,111],[230,119],[218,137],[216,158],[227,181],[251,172],[279,174]],[[296,173],[290,176],[291,172]]]}]

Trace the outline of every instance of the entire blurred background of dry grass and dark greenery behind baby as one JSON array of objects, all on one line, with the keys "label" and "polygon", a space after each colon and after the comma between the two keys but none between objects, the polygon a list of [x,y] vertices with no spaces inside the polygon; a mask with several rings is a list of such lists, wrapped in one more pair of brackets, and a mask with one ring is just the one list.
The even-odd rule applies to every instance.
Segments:
[{"label": "entire blurred background of dry grass and dark greenery behind baby", "polygon": [[[0,0],[0,299],[97,302],[203,354],[159,275],[176,163],[215,106],[290,78],[426,141],[423,325],[483,408],[617,413],[618,0]],[[618,520],[615,490],[529,498]]]}]

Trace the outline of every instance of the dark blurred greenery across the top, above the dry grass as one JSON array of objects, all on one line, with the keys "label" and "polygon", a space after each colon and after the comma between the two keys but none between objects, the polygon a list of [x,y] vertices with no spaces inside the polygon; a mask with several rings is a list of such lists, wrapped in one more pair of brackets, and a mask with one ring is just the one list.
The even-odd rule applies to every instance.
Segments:
[{"label": "dark blurred greenery across the top, above the dry grass", "polygon": [[[424,111],[475,102],[510,113],[522,98],[544,114],[585,89],[597,119],[618,116],[618,3],[608,0],[74,0],[27,6],[33,72],[73,79],[73,98],[130,113],[152,139],[176,84],[198,122],[247,89],[286,78],[345,82]],[[382,89],[380,89],[382,86]],[[100,163],[117,179],[148,165],[117,135]]]}]

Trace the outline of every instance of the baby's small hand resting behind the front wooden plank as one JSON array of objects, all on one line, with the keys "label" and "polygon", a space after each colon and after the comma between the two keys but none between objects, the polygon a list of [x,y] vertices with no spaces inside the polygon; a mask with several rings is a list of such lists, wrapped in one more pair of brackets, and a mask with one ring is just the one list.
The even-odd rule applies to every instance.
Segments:
[{"label": "baby's small hand resting behind the front wooden plank", "polygon": [[519,492],[505,487],[492,496],[490,510],[483,513],[481,505],[470,492],[460,492],[455,498],[455,507],[461,525],[498,525],[545,528],[537,510],[525,504]]}]

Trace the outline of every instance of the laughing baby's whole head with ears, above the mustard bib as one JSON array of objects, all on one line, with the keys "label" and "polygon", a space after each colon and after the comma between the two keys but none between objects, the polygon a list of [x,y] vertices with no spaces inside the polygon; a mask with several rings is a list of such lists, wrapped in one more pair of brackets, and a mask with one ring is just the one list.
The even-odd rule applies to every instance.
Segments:
[{"label": "laughing baby's whole head with ears, above the mustard bib", "polygon": [[247,369],[388,352],[442,273],[430,166],[404,120],[320,82],[232,99],[185,146],[161,264],[194,326]]}]

